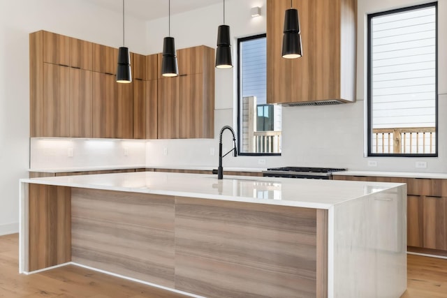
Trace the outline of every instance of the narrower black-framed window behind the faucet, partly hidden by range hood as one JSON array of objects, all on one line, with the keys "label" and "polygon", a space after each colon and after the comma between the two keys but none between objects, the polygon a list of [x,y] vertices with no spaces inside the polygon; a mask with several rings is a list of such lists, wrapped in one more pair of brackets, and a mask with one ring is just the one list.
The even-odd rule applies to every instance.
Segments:
[{"label": "narrower black-framed window behind the faucet, partly hidden by range hood", "polygon": [[265,34],[237,40],[238,147],[241,155],[281,154],[281,106],[267,104]]}]

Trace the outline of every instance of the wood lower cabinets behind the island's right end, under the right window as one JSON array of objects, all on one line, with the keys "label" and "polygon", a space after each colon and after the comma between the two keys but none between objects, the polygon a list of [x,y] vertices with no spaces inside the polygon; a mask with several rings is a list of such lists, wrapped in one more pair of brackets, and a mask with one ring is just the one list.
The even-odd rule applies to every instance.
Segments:
[{"label": "wood lower cabinets behind the island's right end, under the right window", "polygon": [[406,183],[407,245],[434,255],[447,252],[447,179],[334,175],[336,180]]}]

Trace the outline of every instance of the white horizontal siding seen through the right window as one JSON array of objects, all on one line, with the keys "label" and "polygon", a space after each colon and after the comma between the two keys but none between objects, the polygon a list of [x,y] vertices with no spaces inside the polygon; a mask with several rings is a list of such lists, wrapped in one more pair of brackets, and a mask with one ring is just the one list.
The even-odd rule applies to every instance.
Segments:
[{"label": "white horizontal siding seen through the right window", "polygon": [[436,30],[436,6],[372,17],[372,128],[436,125]]}]

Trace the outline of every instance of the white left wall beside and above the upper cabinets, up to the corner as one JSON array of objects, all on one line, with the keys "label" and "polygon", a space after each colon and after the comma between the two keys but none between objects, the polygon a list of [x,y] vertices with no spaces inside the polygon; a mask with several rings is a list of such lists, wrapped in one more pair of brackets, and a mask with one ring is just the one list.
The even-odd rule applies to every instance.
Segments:
[{"label": "white left wall beside and above the upper cabinets, up to the corner", "polygon": [[[18,231],[18,180],[29,167],[29,33],[41,29],[118,47],[122,14],[85,0],[0,1],[0,234]],[[146,52],[145,36],[145,22],[126,17],[131,51]]]}]

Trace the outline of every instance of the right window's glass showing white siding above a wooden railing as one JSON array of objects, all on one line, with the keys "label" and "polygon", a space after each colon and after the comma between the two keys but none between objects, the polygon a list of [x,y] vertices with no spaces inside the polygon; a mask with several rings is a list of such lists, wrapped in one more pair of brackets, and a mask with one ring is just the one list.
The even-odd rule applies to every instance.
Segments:
[{"label": "right window's glass showing white siding above a wooden railing", "polygon": [[437,156],[437,3],[368,15],[368,156]]}]

